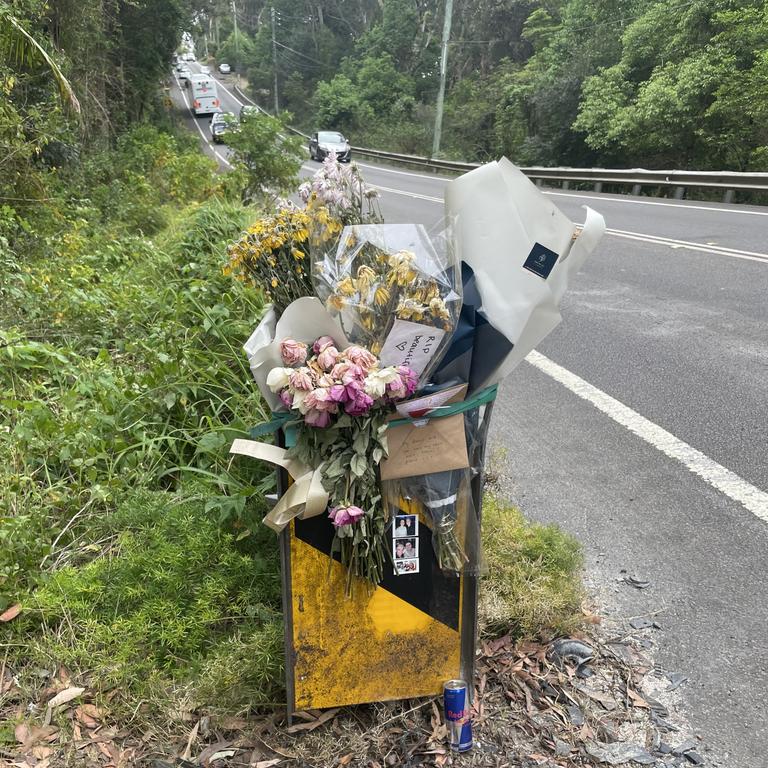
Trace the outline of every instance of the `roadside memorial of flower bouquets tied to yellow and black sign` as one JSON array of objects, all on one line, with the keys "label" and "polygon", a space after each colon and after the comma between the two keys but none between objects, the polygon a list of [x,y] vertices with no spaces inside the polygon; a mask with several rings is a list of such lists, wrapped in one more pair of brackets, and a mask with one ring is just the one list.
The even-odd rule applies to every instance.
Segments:
[{"label": "roadside memorial of flower bouquets tied to yellow and black sign", "polygon": [[245,344],[273,419],[230,450],[278,467],[289,713],[471,694],[496,388],[605,224],[577,228],[506,159],[448,184],[436,233],[382,223],[333,158],[301,197],[230,249],[274,299]]}]

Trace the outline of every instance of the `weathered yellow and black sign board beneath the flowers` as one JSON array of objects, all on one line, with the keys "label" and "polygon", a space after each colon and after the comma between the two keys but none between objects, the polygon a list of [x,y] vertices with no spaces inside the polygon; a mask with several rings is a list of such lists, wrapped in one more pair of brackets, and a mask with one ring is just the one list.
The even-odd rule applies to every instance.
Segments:
[{"label": "weathered yellow and black sign board beneath the flowers", "polygon": [[465,590],[465,577],[439,569],[424,515],[419,572],[388,569],[376,589],[359,583],[351,598],[344,569],[330,557],[333,528],[325,516],[296,520],[283,536],[291,710],[435,695],[460,676],[462,603],[475,592]]}]

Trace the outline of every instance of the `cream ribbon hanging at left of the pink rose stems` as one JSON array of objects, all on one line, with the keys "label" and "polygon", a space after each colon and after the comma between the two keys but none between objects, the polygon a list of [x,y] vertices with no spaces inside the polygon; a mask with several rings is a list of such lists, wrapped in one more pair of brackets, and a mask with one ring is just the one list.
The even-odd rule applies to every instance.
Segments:
[{"label": "cream ribbon hanging at left of the pink rose stems", "polygon": [[259,443],[256,440],[237,439],[233,441],[229,452],[276,464],[293,478],[293,485],[262,521],[273,531],[280,533],[294,518],[306,520],[321,515],[328,509],[329,497],[323,488],[320,469],[311,469],[301,461],[289,458],[285,448]]}]

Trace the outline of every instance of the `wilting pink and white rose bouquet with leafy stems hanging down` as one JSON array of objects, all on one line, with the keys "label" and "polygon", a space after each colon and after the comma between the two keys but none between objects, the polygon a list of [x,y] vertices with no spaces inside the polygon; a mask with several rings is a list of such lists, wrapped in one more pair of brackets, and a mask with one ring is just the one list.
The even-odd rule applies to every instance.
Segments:
[{"label": "wilting pink and white rose bouquet with leafy stems hanging down", "polygon": [[416,390],[406,367],[381,366],[369,350],[339,349],[330,336],[312,344],[280,342],[282,366],[266,383],[296,417],[296,443],[288,457],[321,473],[330,497],[333,552],[352,577],[376,585],[384,573],[388,548],[386,511],[377,468],[387,455],[386,420],[392,404]]}]

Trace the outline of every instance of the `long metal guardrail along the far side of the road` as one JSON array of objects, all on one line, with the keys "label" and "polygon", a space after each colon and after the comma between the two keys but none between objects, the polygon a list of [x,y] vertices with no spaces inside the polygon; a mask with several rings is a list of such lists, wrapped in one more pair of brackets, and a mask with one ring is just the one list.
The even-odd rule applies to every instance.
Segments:
[{"label": "long metal guardrail along the far side of the road", "polygon": [[[482,165],[482,163],[464,163],[418,155],[403,155],[397,152],[382,152],[366,147],[352,147],[352,151],[365,157],[433,171],[464,173]],[[571,183],[589,183],[595,192],[602,192],[604,184],[631,186],[633,195],[639,195],[643,187],[673,187],[674,197],[682,199],[689,187],[721,189],[723,190],[724,203],[733,202],[737,190],[768,192],[768,173],[649,171],[644,168],[546,168],[540,166],[521,167],[520,170],[539,185],[545,181],[560,182],[563,189],[569,189]]]}]

